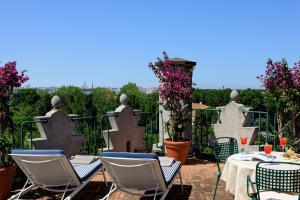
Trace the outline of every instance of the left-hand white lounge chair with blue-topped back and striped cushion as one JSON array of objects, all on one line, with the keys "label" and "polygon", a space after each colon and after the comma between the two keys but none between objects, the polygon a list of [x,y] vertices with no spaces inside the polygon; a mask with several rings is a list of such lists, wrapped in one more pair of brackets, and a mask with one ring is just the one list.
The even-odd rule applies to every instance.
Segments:
[{"label": "left-hand white lounge chair with blue-topped back and striped cushion", "polygon": [[[99,159],[90,164],[71,164],[61,150],[13,150],[10,156],[27,176],[21,192],[10,199],[19,199],[38,187],[63,192],[61,199],[70,200],[102,169]],[[73,192],[64,198],[69,191]]]}]

